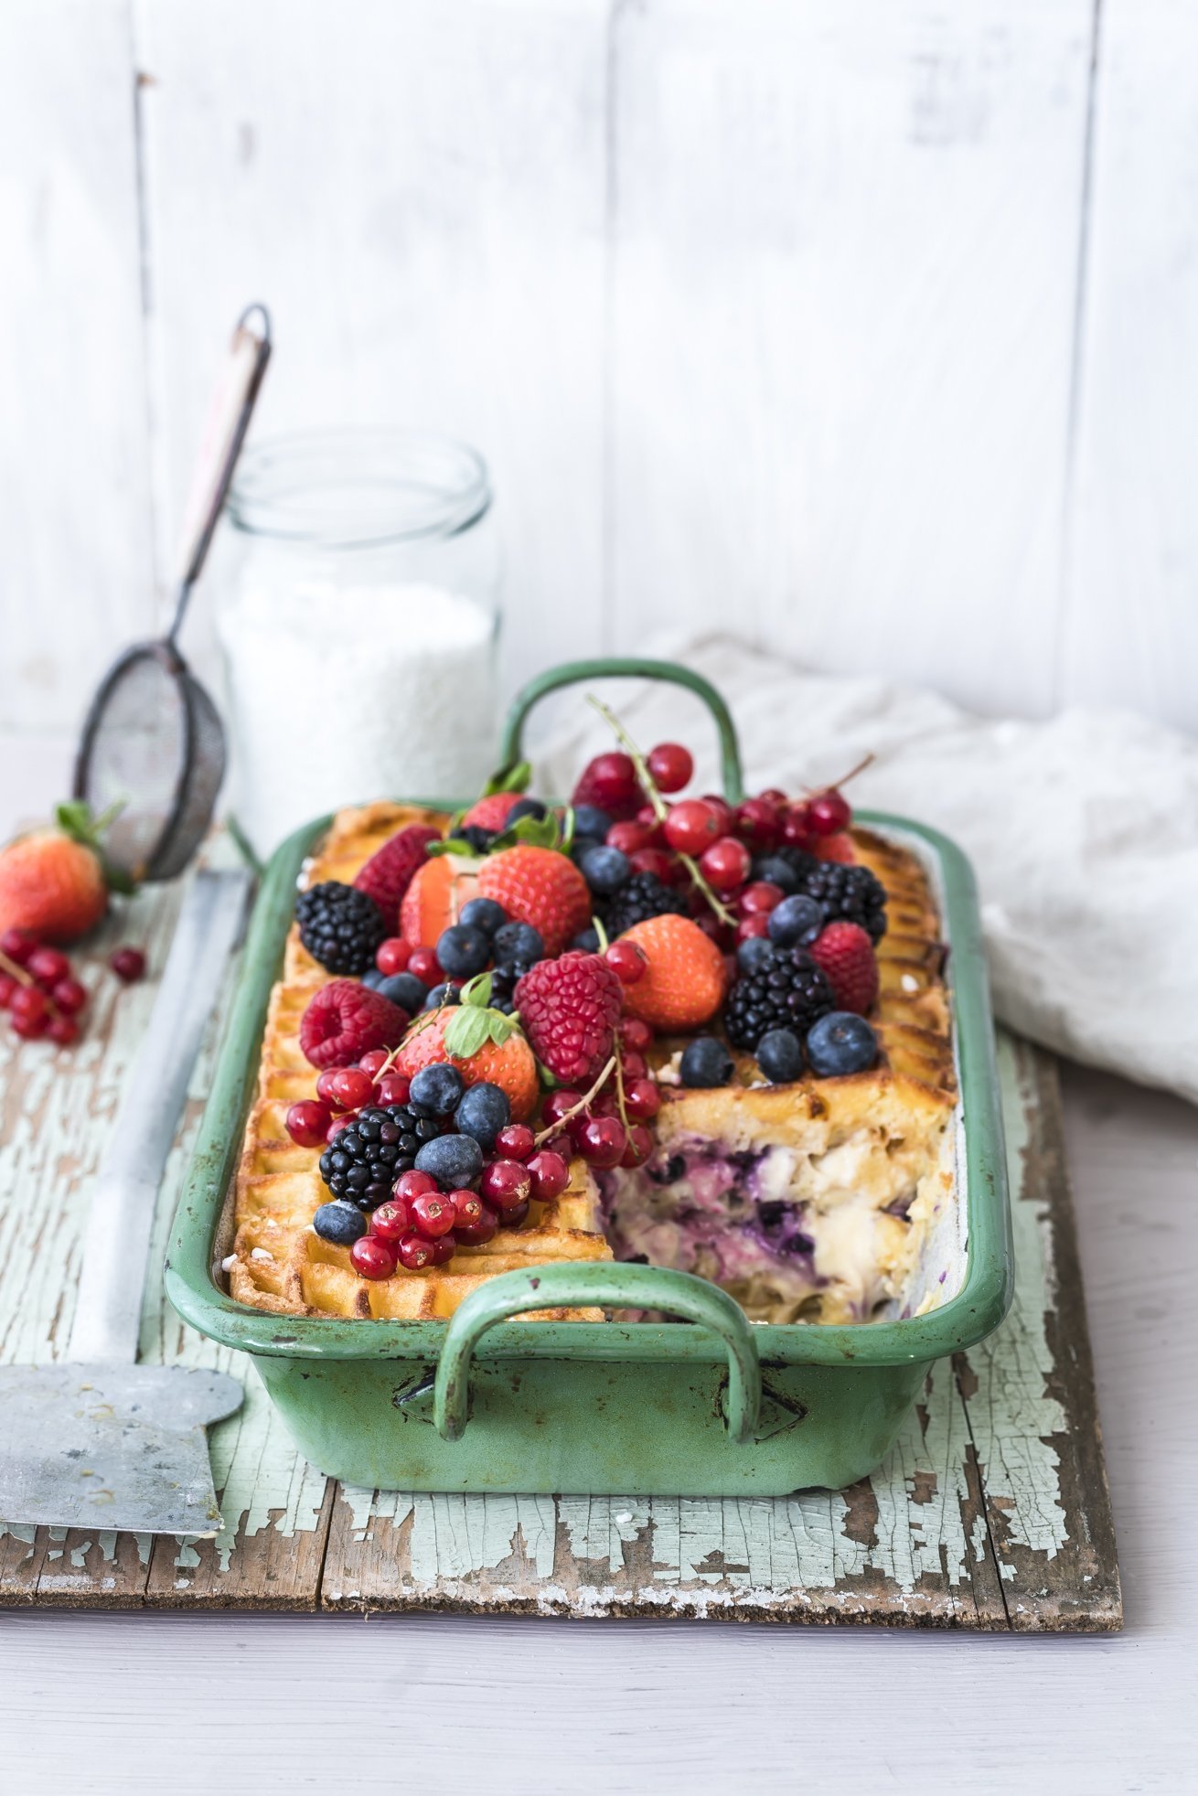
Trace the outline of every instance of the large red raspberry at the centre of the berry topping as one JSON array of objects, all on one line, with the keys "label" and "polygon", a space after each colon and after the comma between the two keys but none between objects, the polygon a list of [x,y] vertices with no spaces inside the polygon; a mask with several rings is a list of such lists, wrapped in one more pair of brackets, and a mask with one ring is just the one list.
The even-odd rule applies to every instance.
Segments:
[{"label": "large red raspberry at the centre of the berry topping", "polygon": [[623,1002],[620,975],[600,954],[537,961],[512,993],[532,1051],[562,1085],[591,1085],[611,1060]]}]

